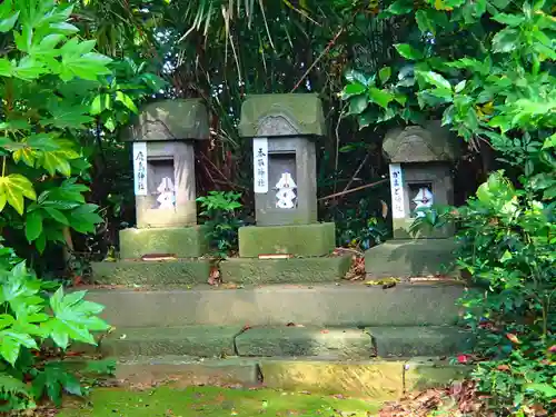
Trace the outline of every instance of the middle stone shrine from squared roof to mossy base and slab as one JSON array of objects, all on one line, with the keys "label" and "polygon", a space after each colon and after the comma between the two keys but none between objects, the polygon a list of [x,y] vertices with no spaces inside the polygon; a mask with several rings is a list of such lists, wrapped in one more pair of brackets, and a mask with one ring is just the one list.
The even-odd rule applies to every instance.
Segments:
[{"label": "middle stone shrine from squared roof to mossy base and slab", "polygon": [[[257,226],[239,229],[241,268],[224,261],[224,275],[287,270],[285,279],[295,281],[298,270],[299,281],[310,281],[301,275],[315,270],[321,279],[334,280],[346,274],[346,260],[315,261],[330,257],[336,246],[335,225],[317,219],[315,140],[325,129],[316,95],[261,95],[246,100],[239,130],[252,142]],[[275,255],[291,259],[265,259]],[[267,264],[272,268],[266,268]]]}]

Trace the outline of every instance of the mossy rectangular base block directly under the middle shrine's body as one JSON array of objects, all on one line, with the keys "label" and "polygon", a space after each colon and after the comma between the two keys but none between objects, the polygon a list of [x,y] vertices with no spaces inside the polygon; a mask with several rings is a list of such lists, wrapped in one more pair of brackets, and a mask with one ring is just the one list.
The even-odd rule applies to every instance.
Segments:
[{"label": "mossy rectangular base block directly under the middle shrine's body", "polygon": [[286,254],[304,257],[327,256],[336,248],[332,222],[288,226],[248,226],[239,229],[239,257]]}]

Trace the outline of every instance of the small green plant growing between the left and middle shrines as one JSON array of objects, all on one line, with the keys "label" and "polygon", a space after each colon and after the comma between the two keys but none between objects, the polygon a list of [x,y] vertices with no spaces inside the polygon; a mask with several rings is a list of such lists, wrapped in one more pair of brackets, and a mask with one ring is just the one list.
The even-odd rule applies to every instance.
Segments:
[{"label": "small green plant growing between the left and middle shrines", "polygon": [[210,191],[197,199],[202,208],[200,215],[207,218],[210,246],[219,258],[238,250],[238,229],[242,225],[237,212],[242,207],[240,199],[241,193],[234,191]]}]

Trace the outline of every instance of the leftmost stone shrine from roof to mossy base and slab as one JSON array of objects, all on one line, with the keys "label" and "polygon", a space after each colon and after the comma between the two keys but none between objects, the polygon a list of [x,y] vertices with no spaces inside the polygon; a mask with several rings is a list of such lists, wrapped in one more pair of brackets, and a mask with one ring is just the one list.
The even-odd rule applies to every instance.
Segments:
[{"label": "leftmost stone shrine from roof to mossy base and slab", "polygon": [[[208,138],[208,113],[201,100],[167,100],[141,109],[125,138],[132,143],[137,214],[137,228],[120,230],[120,258],[128,262],[120,262],[112,276],[107,270],[113,268],[93,265],[95,279],[129,284],[129,275],[137,275],[138,268],[152,269],[152,261],[143,259],[147,256],[180,264],[165,268],[171,272],[165,284],[180,282],[177,275],[196,277],[199,271],[203,274],[199,280],[207,280],[208,261],[195,260],[207,252],[208,242],[197,225],[193,142]],[[198,268],[195,262],[207,266]]]}]

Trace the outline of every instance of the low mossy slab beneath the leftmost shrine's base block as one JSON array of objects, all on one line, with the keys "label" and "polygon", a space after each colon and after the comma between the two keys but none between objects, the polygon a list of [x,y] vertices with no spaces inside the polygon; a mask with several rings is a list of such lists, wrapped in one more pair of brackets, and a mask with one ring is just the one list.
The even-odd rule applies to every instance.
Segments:
[{"label": "low mossy slab beneath the leftmost shrine's base block", "polygon": [[127,286],[206,284],[210,274],[208,259],[119,260],[92,262],[91,267],[95,282]]}]

